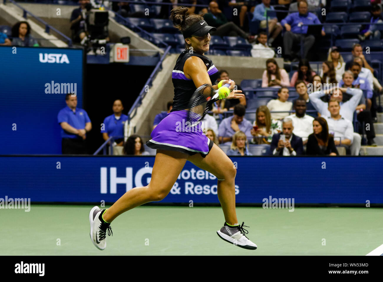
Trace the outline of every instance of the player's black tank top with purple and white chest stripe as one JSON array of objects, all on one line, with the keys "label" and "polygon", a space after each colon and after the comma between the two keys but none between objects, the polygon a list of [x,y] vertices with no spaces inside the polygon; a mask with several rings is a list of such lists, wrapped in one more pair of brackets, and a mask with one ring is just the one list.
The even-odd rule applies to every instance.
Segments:
[{"label": "player's black tank top with purple and white chest stripe", "polygon": [[183,73],[183,65],[191,56],[197,56],[198,58],[201,58],[203,63],[205,63],[212,85],[219,77],[218,69],[214,66],[211,59],[195,52],[193,52],[193,54],[189,54],[188,50],[183,51],[180,56],[178,56],[172,73],[174,98],[173,109],[170,112],[187,109],[191,95],[193,95],[194,91],[197,89],[193,80],[186,78]]}]

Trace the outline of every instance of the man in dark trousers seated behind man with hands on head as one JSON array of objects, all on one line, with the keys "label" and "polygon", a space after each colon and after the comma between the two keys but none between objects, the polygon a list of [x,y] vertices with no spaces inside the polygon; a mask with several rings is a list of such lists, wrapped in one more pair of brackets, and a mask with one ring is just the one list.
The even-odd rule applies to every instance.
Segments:
[{"label": "man in dark trousers seated behind man with hands on head", "polygon": [[[358,82],[356,82],[356,84],[357,83]],[[352,73],[352,71],[345,71],[344,72],[343,80],[341,82],[341,85],[343,87],[355,87],[354,86],[355,85],[354,74]],[[363,88],[366,85],[368,85],[368,83],[360,84],[360,89],[363,90]],[[345,99],[343,99],[343,100],[345,100]],[[374,124],[373,124],[373,119],[372,119],[370,110],[366,110],[365,99],[364,99],[363,95],[362,95],[361,101],[359,102],[359,105],[355,109],[357,111],[357,119],[358,119],[358,121],[361,124],[363,124],[363,122],[365,124],[370,124],[370,130],[366,130],[367,144],[370,145],[370,146],[376,146],[376,143],[374,142],[375,128],[374,128]]]}]

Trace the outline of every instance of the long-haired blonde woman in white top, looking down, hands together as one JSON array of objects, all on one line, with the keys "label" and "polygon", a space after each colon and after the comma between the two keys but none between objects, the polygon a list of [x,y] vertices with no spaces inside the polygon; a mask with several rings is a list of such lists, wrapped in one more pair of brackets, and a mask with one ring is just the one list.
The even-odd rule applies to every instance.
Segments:
[{"label": "long-haired blonde woman in white top, looking down, hands together", "polygon": [[267,106],[258,107],[255,116],[253,129],[250,131],[254,136],[252,143],[270,144],[273,135],[282,131],[282,122],[278,119],[271,119]]}]

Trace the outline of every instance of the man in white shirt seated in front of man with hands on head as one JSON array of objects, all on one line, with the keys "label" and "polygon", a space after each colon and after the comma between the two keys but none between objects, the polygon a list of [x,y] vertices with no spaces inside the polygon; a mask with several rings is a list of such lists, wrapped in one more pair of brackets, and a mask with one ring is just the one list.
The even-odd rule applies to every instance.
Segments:
[{"label": "man in white shirt seated in front of man with hands on head", "polygon": [[[360,151],[360,142],[354,140],[354,127],[352,126],[352,122],[342,117],[342,115],[339,114],[339,110],[339,100],[331,98],[328,102],[330,115],[323,116],[327,121],[329,133],[334,135],[336,146],[345,145],[350,149],[352,155],[357,156]],[[354,144],[354,148],[351,148],[352,144]]]}]

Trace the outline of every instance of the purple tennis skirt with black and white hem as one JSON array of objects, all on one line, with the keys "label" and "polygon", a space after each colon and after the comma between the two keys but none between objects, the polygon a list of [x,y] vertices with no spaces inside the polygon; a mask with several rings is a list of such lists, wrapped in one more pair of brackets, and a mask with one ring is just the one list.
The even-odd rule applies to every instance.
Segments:
[{"label": "purple tennis skirt with black and white hem", "polygon": [[146,142],[150,148],[172,150],[190,156],[200,153],[205,158],[213,148],[213,142],[202,132],[201,123],[190,126],[187,110],[170,112],[155,127],[151,137]]}]

